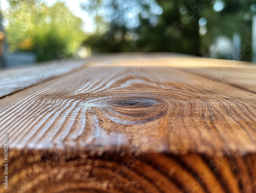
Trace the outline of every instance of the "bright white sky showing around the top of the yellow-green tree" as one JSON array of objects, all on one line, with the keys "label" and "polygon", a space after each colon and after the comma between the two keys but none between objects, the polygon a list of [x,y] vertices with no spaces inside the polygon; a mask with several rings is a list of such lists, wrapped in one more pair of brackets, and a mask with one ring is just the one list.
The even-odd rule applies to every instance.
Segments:
[{"label": "bright white sky showing around the top of the yellow-green tree", "polygon": [[[1,1],[1,9],[5,10],[8,8],[7,0],[0,0]],[[80,7],[79,4],[86,2],[87,0],[58,0],[60,2],[65,2],[69,9],[73,12],[74,15],[80,17],[83,20],[83,31],[87,33],[93,33],[95,30],[95,25],[93,23],[92,18],[84,12]],[[53,5],[57,2],[57,0],[46,0],[48,5]]]}]

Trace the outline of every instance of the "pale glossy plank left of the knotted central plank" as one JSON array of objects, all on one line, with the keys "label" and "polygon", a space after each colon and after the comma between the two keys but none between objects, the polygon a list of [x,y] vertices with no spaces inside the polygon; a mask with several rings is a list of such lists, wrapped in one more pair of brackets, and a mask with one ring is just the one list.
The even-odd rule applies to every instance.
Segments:
[{"label": "pale glossy plank left of the knotted central plank", "polygon": [[84,60],[55,60],[40,65],[0,71],[0,97],[81,68]]}]

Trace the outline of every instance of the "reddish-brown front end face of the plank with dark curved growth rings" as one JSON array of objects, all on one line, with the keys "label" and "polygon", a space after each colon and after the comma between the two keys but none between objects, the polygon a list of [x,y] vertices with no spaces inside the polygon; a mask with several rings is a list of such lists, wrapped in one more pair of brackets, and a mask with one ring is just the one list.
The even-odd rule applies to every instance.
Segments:
[{"label": "reddish-brown front end face of the plank with dark curved growth rings", "polygon": [[[255,192],[255,155],[12,151],[11,192]],[[2,161],[2,160],[1,160]],[[22,164],[20,164],[22,162]]]}]

